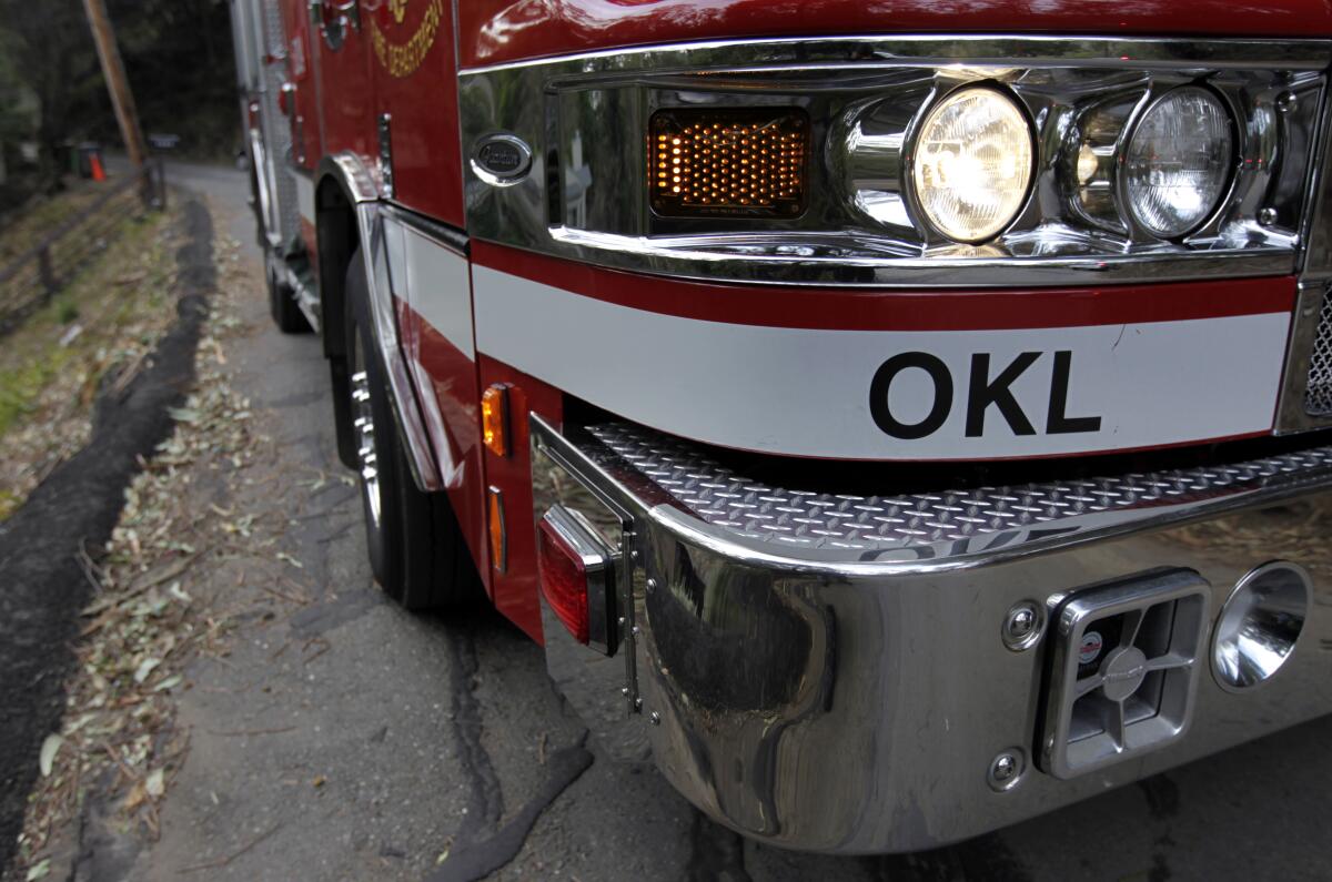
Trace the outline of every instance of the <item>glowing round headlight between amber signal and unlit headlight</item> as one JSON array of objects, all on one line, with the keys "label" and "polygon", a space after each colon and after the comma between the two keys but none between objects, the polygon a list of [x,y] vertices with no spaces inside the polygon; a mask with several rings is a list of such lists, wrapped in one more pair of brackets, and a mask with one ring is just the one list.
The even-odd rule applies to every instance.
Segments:
[{"label": "glowing round headlight between amber signal and unlit headlight", "polygon": [[920,211],[954,241],[991,238],[1022,209],[1034,155],[1031,125],[1012,99],[987,87],[958,89],[930,109],[915,140]]}]

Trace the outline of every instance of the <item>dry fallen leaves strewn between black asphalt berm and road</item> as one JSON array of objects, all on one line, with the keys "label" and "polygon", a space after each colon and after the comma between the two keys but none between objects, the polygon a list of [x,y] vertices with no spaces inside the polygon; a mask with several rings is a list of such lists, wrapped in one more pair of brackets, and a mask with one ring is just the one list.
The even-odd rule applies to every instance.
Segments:
[{"label": "dry fallen leaves strewn between black asphalt berm and road", "polygon": [[[225,492],[260,448],[249,429],[249,401],[234,392],[222,369],[222,341],[242,328],[226,288],[218,280],[197,356],[196,388],[170,414],[174,432],[141,462],[101,554],[79,556],[95,594],[83,610],[87,625],[67,686],[65,718],[43,743],[41,778],[19,839],[19,867],[28,867],[28,878],[49,873],[43,850],[52,830],[79,814],[93,783],[109,782],[123,826],[157,835],[160,803],[189,747],[173,695],[189,687],[190,658],[222,661],[232,628],[229,613],[196,602],[198,576],[226,560],[238,540],[246,544],[244,554],[273,560],[273,536],[280,530],[198,500],[204,494],[198,485],[213,481],[209,476],[217,474],[209,494]],[[153,340],[145,332],[135,349],[121,348],[139,354],[137,361],[128,360],[131,370],[143,364]],[[0,438],[0,452],[7,440]]]}]

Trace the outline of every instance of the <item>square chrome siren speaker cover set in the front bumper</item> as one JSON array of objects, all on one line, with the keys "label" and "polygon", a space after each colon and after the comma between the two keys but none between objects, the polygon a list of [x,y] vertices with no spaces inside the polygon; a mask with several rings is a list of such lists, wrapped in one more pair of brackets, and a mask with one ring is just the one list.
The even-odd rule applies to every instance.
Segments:
[{"label": "square chrome siren speaker cover set in the front bumper", "polygon": [[1181,738],[1211,586],[1152,570],[1074,592],[1054,614],[1040,767],[1072,778]]}]

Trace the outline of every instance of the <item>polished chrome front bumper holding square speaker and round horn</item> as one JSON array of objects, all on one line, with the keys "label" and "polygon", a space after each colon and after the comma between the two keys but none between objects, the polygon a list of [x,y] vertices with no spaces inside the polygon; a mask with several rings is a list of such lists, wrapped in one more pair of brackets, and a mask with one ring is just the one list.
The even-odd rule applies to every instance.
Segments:
[{"label": "polished chrome front bumper holding square speaker and round horn", "polygon": [[[547,614],[553,677],[613,753],[650,751],[746,835],[926,849],[1332,711],[1332,448],[867,497],[747,481],[637,426],[531,426],[537,517],[578,509],[623,552],[618,656]],[[1216,618],[1273,558],[1312,576],[1308,618],[1275,675],[1223,689]],[[1060,779],[1042,762],[1058,620],[1086,586],[1154,572],[1201,585],[1191,723]],[[1040,637],[1014,649],[1024,602]]]}]

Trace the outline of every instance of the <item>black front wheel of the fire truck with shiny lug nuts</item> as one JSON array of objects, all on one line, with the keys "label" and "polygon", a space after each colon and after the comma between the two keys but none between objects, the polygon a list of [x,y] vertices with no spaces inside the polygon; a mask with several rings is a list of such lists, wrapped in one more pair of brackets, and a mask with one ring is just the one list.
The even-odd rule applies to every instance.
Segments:
[{"label": "black front wheel of the fire truck with shiny lug nuts", "polygon": [[408,609],[465,605],[478,597],[480,578],[449,497],[420,490],[412,477],[374,342],[360,250],[346,272],[346,396],[370,570]]}]

